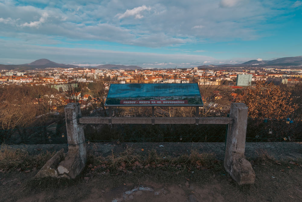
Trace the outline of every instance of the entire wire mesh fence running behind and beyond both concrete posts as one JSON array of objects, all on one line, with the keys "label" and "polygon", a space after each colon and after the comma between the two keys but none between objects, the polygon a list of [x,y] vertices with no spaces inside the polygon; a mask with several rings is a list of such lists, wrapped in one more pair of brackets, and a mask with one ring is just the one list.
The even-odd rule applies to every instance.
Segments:
[{"label": "entire wire mesh fence running behind and beyond both concrete posts", "polygon": [[[225,142],[227,125],[85,124],[86,142]],[[246,142],[302,142],[302,120],[249,118]],[[66,123],[0,130],[0,144],[67,144]]]}]

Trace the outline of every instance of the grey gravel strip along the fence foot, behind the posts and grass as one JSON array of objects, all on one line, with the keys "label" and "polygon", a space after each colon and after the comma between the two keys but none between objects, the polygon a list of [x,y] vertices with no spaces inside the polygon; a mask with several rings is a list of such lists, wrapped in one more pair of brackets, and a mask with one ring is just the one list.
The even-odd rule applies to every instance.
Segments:
[{"label": "grey gravel strip along the fence foot, behind the posts and grass", "polygon": [[[59,151],[61,148],[68,151],[67,144],[49,144],[49,145],[9,145],[11,148],[26,149],[29,154],[36,155],[42,151]],[[86,144],[87,150],[94,155],[103,156],[114,153],[120,153],[125,148],[132,147],[136,153],[146,154],[148,150],[156,149],[162,155],[177,156],[182,154],[189,154],[192,149],[197,149],[200,153],[214,153],[217,159],[224,158],[224,142],[126,142],[114,144],[112,142],[106,143],[90,143]],[[142,149],[144,151],[142,151]],[[302,142],[247,142],[245,155],[248,158],[255,158],[263,151],[267,151],[268,155],[280,159],[297,159],[302,158]]]}]

